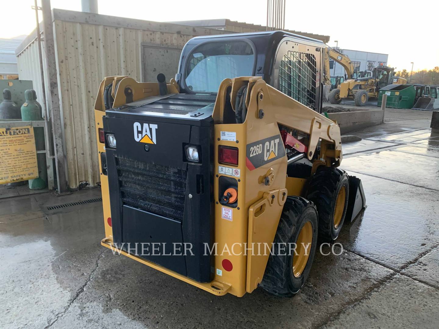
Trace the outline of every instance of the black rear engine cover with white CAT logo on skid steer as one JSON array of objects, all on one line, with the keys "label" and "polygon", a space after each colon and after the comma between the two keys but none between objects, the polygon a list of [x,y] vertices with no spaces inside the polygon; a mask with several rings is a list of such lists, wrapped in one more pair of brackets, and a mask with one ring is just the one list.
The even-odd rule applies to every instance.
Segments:
[{"label": "black rear engine cover with white CAT logo on skid steer", "polygon": [[[117,143],[105,142],[113,241],[198,282],[213,277],[205,245],[213,243],[214,101],[179,94],[111,109],[103,118]],[[198,146],[199,163],[187,161],[188,144]],[[169,255],[174,244],[176,255]]]}]

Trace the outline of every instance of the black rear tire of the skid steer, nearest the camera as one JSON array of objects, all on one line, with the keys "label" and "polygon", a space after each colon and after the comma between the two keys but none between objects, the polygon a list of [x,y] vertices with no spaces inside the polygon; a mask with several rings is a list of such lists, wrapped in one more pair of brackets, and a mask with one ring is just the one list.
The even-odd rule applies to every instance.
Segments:
[{"label": "black rear tire of the skid steer, nearest the camera", "polygon": [[[288,243],[295,243],[303,225],[311,222],[313,226],[313,240],[309,251],[306,266],[298,278],[293,274],[293,256],[288,255]],[[302,197],[287,197],[282,210],[279,225],[277,226],[274,243],[286,243],[283,252],[275,252],[270,257],[265,268],[262,282],[259,286],[269,293],[280,297],[293,297],[300,291],[313,265],[317,247],[318,219],[314,204]],[[275,244],[275,246],[278,246]]]}]

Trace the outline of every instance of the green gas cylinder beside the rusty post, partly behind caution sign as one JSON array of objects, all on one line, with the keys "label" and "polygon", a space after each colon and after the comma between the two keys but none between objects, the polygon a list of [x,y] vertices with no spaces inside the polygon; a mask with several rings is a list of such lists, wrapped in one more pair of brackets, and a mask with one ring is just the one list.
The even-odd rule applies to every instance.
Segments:
[{"label": "green gas cylinder beside the rusty post, partly behind caution sign", "polygon": [[[33,89],[25,91],[25,103],[22,105],[21,114],[23,121],[39,121],[43,120],[41,115],[41,105],[36,101],[36,93]],[[44,128],[34,127],[33,133],[35,136],[36,150],[44,150]],[[37,153],[36,159],[38,161],[38,174],[36,179],[29,179],[29,189],[41,190],[47,187],[47,166],[46,166],[46,154]]]}]

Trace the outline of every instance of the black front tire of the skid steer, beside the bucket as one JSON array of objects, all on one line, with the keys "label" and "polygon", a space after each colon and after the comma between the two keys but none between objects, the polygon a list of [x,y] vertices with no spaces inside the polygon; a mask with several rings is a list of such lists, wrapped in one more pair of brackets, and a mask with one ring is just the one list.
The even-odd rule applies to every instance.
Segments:
[{"label": "black front tire of the skid steer, beside the bucket", "polygon": [[[338,192],[346,189],[345,207],[337,228],[334,225],[335,202]],[[319,214],[319,239],[324,242],[332,242],[337,239],[343,222],[345,221],[346,209],[349,200],[349,177],[338,168],[320,166],[317,172],[309,180],[306,198],[317,207]]]}]

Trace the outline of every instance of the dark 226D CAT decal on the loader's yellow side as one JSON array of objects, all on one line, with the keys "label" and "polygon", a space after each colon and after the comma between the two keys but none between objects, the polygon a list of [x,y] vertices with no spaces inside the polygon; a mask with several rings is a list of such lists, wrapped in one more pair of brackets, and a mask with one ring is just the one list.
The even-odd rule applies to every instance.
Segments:
[{"label": "dark 226D CAT decal on the loader's yellow side", "polygon": [[281,136],[275,135],[247,144],[246,165],[250,170],[285,156]]}]

